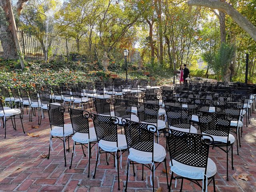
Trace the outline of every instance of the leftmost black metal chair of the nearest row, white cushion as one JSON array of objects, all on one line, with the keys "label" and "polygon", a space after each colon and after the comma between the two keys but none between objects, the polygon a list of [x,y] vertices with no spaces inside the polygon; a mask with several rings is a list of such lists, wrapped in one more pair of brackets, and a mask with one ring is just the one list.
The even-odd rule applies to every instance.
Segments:
[{"label": "leftmost black metal chair of the nearest row, white cushion", "polygon": [[[50,121],[50,144],[49,144],[49,154],[48,159],[50,158],[50,150],[52,148],[52,139],[59,138],[63,141],[63,150],[64,150],[64,160],[65,167],[66,163],[66,141],[68,140],[68,152],[69,152],[69,137],[74,134],[72,129],[72,124],[64,123],[64,112],[65,108],[63,106],[49,104],[48,105],[48,115]],[[52,149],[53,150],[53,149]]]}]

